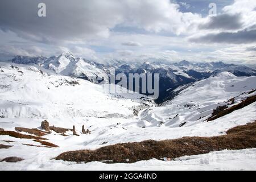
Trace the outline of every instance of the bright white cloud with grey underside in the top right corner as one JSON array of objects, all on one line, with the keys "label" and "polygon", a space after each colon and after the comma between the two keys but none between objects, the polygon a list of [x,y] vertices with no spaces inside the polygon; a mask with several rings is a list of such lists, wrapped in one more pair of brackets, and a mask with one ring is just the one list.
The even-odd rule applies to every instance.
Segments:
[{"label": "bright white cloud with grey underside in the top right corner", "polygon": [[218,44],[250,44],[255,42],[256,34],[256,1],[235,0],[232,5],[225,6],[217,16],[201,19],[196,34],[188,37],[196,43],[205,45]]}]

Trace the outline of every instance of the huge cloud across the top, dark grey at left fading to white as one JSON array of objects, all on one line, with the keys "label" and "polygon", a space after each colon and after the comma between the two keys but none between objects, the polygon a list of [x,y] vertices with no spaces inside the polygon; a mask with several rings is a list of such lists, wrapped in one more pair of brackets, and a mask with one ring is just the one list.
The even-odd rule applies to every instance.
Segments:
[{"label": "huge cloud across the top, dark grey at left fading to white", "polygon": [[117,24],[181,34],[186,32],[193,19],[200,17],[181,13],[179,6],[169,0],[76,0],[65,3],[61,0],[45,0],[47,16],[40,18],[36,14],[38,3],[39,0],[2,0],[0,28],[14,31],[26,39],[52,44],[108,38],[110,28]]}]

